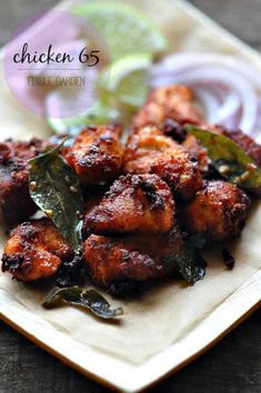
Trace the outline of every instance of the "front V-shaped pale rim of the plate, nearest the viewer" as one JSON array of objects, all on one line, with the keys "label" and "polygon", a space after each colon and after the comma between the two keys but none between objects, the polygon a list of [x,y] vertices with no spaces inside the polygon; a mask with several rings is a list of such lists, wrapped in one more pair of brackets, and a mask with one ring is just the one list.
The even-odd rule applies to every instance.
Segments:
[{"label": "front V-shaped pale rim of the plate, nearest the viewer", "polygon": [[[193,360],[205,353],[222,337],[229,334],[261,305],[261,269],[252,274],[250,279],[240,285],[231,295],[229,295],[227,300],[214,309],[214,311],[210,313],[208,318],[204,319],[198,326],[195,326],[184,339],[178,340],[167,350],[137,366],[117,360],[113,355],[103,354],[101,352],[98,353],[94,349],[77,342],[69,335],[57,331],[56,328],[39,315],[37,315],[37,320],[31,321],[33,323],[29,326],[30,322],[28,321],[30,321],[31,311],[23,304],[21,304],[22,310],[19,310],[22,312],[22,316],[17,314],[13,315],[10,310],[4,310],[4,293],[10,296],[10,293],[0,290],[0,319],[8,325],[49,352],[62,363],[71,366],[81,374],[96,380],[102,385],[112,387],[120,392],[138,393],[190,364]],[[245,296],[245,293],[248,293],[248,296]],[[13,301],[17,302],[17,300]],[[230,311],[229,313],[228,310]],[[38,324],[38,320],[41,320],[41,324]],[[219,325],[220,320],[222,320],[222,325]],[[23,328],[24,324],[26,328]],[[205,325],[211,325],[211,330],[205,330]],[[48,344],[49,332],[47,332],[47,329],[49,329],[49,332],[52,333],[52,343],[53,334],[58,336],[60,350],[57,347],[54,349],[52,344]],[[38,331],[38,334],[33,333],[36,330]],[[202,333],[205,333],[205,331],[209,332],[209,337],[204,337],[204,345],[201,343],[197,345],[197,339],[201,337]],[[92,357],[94,356],[94,366],[90,363],[84,365],[82,362],[80,364],[79,361],[71,360],[69,353],[64,351],[63,346],[64,342],[68,342],[68,340],[73,342],[73,345],[77,345],[82,351],[86,350],[87,355]],[[183,354],[183,356],[181,356],[180,350],[182,349],[183,351],[184,347],[187,347],[189,355]],[[180,353],[178,361],[177,357],[173,356],[174,353]],[[110,370],[108,370],[107,376],[104,376],[104,374],[103,376],[99,374],[101,361],[104,361],[104,363],[109,361],[110,370],[121,370],[117,377],[116,374],[110,374]],[[151,377],[152,369],[154,371],[153,377]]]}]

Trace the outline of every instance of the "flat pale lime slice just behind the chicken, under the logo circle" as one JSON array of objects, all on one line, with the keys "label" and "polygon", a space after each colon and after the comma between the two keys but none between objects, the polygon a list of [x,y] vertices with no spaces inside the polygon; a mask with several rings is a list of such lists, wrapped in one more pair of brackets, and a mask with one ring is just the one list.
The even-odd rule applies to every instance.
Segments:
[{"label": "flat pale lime slice just behind the chicken, under the logo circle", "polygon": [[[54,98],[52,98],[52,101],[53,100]],[[74,133],[73,130],[77,128],[81,128],[90,124],[113,123],[117,122],[118,120],[119,120],[119,112],[102,101],[98,101],[93,107],[88,109],[86,112],[82,112],[80,114],[70,118],[51,118],[47,113],[47,123],[56,133],[70,134],[70,133]],[[71,130],[72,132],[70,132]]]}]

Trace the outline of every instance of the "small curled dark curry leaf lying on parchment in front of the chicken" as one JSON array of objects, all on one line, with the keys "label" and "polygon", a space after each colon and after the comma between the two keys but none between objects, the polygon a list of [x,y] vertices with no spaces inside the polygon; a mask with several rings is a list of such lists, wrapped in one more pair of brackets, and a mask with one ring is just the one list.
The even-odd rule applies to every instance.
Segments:
[{"label": "small curled dark curry leaf lying on parchment in front of the chicken", "polygon": [[97,316],[106,320],[114,319],[123,313],[121,308],[111,309],[108,301],[99,292],[94,290],[83,291],[80,286],[54,288],[42,306],[50,309],[62,301],[88,309]]}]

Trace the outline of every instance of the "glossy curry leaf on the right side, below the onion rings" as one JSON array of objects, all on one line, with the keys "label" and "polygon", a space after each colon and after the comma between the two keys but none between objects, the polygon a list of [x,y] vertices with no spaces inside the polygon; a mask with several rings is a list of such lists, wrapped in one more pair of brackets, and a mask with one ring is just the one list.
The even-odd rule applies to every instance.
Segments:
[{"label": "glossy curry leaf on the right side, below the onion rings", "polygon": [[238,143],[194,125],[188,124],[185,130],[207,149],[212,165],[223,178],[243,189],[261,187],[261,169]]}]

